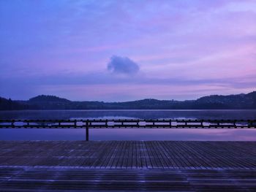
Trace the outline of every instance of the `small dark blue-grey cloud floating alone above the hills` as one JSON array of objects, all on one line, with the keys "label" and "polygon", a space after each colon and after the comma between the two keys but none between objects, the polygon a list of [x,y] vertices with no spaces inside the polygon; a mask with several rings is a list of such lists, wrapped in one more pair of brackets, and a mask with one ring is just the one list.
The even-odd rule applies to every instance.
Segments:
[{"label": "small dark blue-grey cloud floating alone above the hills", "polygon": [[127,57],[113,55],[108,63],[108,71],[114,74],[137,74],[140,66]]}]

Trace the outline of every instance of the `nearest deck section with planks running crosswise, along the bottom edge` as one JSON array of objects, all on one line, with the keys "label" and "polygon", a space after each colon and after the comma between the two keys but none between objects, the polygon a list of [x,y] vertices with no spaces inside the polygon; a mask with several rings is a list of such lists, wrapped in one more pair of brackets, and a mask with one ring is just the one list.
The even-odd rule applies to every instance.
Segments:
[{"label": "nearest deck section with planks running crosswise, along the bottom edge", "polygon": [[0,191],[256,191],[252,170],[0,168]]}]

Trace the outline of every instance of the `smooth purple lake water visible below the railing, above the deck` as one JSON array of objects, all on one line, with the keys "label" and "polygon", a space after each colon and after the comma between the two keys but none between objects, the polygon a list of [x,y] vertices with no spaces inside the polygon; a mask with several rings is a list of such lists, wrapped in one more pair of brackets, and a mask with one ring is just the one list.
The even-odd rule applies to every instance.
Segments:
[{"label": "smooth purple lake water visible below the railing, above the deck", "polygon": [[[83,128],[1,129],[1,140],[85,140]],[[256,129],[94,128],[90,140],[256,141]]]}]

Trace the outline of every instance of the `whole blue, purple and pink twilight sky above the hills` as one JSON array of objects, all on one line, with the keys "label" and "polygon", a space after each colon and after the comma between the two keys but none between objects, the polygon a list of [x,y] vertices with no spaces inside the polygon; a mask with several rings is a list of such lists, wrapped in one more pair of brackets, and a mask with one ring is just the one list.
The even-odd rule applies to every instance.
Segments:
[{"label": "whole blue, purple and pink twilight sky above the hills", "polygon": [[0,0],[0,96],[256,91],[256,1]]}]

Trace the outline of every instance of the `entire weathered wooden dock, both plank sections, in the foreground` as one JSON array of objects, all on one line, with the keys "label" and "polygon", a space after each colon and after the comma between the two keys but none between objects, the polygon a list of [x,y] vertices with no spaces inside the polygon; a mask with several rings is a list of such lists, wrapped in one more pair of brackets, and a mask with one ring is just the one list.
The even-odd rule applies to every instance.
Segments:
[{"label": "entire weathered wooden dock, both plank sections, in the foreground", "polygon": [[0,141],[0,191],[256,191],[256,142]]}]

